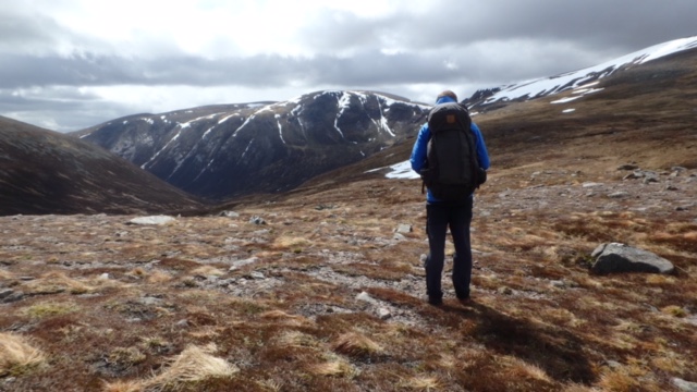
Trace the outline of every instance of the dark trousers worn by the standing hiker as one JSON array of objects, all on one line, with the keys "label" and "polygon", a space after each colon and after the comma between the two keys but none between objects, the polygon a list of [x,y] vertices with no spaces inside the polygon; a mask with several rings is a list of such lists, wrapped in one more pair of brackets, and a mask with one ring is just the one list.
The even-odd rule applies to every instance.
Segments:
[{"label": "dark trousers worn by the standing hiker", "polygon": [[453,286],[457,298],[469,297],[472,280],[472,223],[473,198],[462,203],[429,203],[426,205],[426,229],[430,253],[426,259],[426,292],[430,299],[443,297],[441,275],[445,260],[445,235],[448,228],[455,245],[453,258]]}]

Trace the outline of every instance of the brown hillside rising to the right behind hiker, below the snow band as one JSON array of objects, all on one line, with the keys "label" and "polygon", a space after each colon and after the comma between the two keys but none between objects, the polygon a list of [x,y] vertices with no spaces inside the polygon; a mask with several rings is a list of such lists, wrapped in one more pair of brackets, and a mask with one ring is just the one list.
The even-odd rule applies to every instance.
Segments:
[{"label": "brown hillside rising to the right behind hiker, below the snow band", "polygon": [[[665,56],[609,73],[591,86],[579,84],[536,99],[494,100],[486,110],[473,110],[491,156],[490,175],[496,179],[503,171],[511,181],[529,184],[529,174],[518,173],[592,171],[612,177],[625,163],[656,172],[697,169],[697,48],[661,52]],[[343,183],[384,175],[414,179],[411,149],[411,143],[394,146],[319,175],[289,195],[342,192]]]}]

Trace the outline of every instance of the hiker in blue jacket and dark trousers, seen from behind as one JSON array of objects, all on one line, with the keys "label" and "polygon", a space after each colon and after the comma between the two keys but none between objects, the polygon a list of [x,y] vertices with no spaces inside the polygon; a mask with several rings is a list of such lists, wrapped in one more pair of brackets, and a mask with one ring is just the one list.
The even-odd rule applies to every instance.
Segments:
[{"label": "hiker in blue jacket and dark trousers, seen from behind", "polygon": [[[476,155],[476,157],[474,157],[474,164],[477,166],[478,163],[481,173],[479,175],[484,177],[479,179],[476,184],[467,188],[464,193],[461,192],[455,194],[455,196],[452,196],[452,193],[448,194],[441,192],[441,187],[437,182],[425,176],[425,173],[428,172],[429,166],[432,164],[432,162],[429,162],[429,157],[431,157],[431,152],[429,151],[429,140],[432,139],[431,128],[432,131],[438,131],[438,127],[441,126],[438,125],[439,123],[437,122],[431,122],[431,117],[435,115],[433,113],[439,107],[465,109],[464,113],[466,123],[468,123],[469,130],[472,131],[472,134],[469,134],[470,142],[467,143],[472,144],[474,140],[475,146],[472,146],[469,151],[476,150],[476,154],[461,152],[461,149],[457,149],[457,152],[452,154],[465,154],[467,156]],[[451,119],[452,118],[450,118],[449,121],[451,121]],[[431,123],[430,127],[429,123]],[[466,125],[461,124],[461,128],[465,128],[466,134]],[[458,142],[450,143],[450,145],[458,145]],[[450,151],[453,150],[453,148],[445,149],[449,149]],[[460,160],[458,157],[449,157],[444,159],[447,160],[447,163],[451,163],[449,164],[449,168],[456,167]],[[489,169],[489,154],[487,152],[487,147],[484,143],[481,132],[469,119],[469,114],[464,105],[457,103],[457,96],[453,91],[445,90],[438,96],[436,106],[429,114],[429,122],[424,124],[419,130],[412,150],[411,163],[412,169],[421,174],[425,185],[427,186],[426,232],[428,234],[429,254],[426,257],[425,268],[428,303],[438,306],[443,302],[441,275],[445,259],[445,235],[448,228],[450,228],[453,243],[455,245],[452,281],[457,299],[465,304],[469,301],[469,282],[472,280],[469,224],[472,222],[474,189],[478,187],[481,182],[486,181],[486,170]],[[473,170],[479,170],[479,168]],[[442,172],[443,170],[440,171]],[[435,193],[438,194],[440,198],[437,197]]]}]

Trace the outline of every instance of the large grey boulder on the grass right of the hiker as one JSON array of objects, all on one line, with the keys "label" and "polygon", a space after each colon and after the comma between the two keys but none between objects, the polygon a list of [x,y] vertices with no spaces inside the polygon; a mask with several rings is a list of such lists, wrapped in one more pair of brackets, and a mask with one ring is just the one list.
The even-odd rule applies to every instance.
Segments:
[{"label": "large grey boulder on the grass right of the hiker", "polygon": [[613,272],[673,273],[675,270],[669,260],[625,244],[601,244],[590,256],[596,259],[591,271],[599,274]]}]

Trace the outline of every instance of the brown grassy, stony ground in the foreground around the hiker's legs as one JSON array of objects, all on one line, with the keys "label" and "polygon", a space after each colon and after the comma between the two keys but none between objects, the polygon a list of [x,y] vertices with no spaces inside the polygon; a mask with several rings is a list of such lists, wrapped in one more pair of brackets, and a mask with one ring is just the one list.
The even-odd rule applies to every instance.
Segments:
[{"label": "brown grassy, stony ground in the foreground around the hiker's legs", "polygon": [[[493,171],[475,301],[447,272],[442,308],[424,301],[419,188],[372,179],[160,224],[1,217],[0,338],[38,359],[0,362],[0,391],[695,388],[697,170]],[[592,275],[603,242],[678,272]],[[194,348],[222,370],[176,373]]]}]

